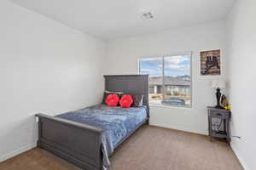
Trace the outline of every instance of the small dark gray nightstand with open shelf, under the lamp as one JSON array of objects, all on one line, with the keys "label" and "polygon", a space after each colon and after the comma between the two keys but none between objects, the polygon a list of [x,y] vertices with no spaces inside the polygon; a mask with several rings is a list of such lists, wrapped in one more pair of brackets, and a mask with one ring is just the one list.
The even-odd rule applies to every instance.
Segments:
[{"label": "small dark gray nightstand with open shelf, under the lamp", "polygon": [[226,139],[230,144],[230,118],[231,112],[215,107],[207,107],[209,136]]}]

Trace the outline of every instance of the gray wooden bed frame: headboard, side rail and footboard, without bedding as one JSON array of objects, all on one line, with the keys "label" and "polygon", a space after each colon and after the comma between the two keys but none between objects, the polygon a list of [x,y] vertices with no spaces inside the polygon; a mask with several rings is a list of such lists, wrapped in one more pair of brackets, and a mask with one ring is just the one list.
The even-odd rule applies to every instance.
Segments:
[{"label": "gray wooden bed frame: headboard, side rail and footboard, without bedding", "polygon": [[[104,77],[105,90],[122,91],[125,94],[143,94],[143,105],[148,106],[148,75]],[[49,150],[56,156],[61,156],[61,158],[85,170],[102,170],[100,136],[103,130],[101,128],[55,116],[44,114],[37,114],[36,116],[38,116],[38,146],[40,148]],[[148,123],[148,118],[139,124],[137,128],[145,123]],[[135,131],[122,139],[119,144]]]}]

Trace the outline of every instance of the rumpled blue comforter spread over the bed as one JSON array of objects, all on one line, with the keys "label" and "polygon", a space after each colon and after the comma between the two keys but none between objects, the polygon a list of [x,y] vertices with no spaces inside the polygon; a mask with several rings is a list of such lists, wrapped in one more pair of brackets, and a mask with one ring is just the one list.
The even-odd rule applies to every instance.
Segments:
[{"label": "rumpled blue comforter spread over the bed", "polygon": [[57,117],[101,127],[103,129],[103,164],[105,167],[108,167],[108,155],[110,155],[119,142],[135,130],[137,125],[143,122],[147,116],[146,106],[121,108],[107,105],[94,105],[78,111],[70,111],[58,115]]}]

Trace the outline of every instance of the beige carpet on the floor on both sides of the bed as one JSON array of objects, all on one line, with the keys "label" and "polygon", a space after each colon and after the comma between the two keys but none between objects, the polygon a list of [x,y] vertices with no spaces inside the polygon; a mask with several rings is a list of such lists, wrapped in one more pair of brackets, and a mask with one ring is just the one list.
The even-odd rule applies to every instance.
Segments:
[{"label": "beige carpet on the floor on both sides of the bed", "polygon": [[[145,126],[110,158],[111,170],[241,170],[224,142],[176,130]],[[4,170],[79,170],[41,149],[29,150],[0,163]]]}]

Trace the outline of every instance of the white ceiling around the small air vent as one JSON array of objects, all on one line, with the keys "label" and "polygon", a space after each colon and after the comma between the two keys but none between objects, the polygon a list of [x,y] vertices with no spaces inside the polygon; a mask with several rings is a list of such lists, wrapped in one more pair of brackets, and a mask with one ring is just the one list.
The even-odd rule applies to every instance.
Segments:
[{"label": "white ceiling around the small air vent", "polygon": [[[11,0],[102,40],[224,20],[236,0]],[[142,12],[153,19],[143,20]]]}]

